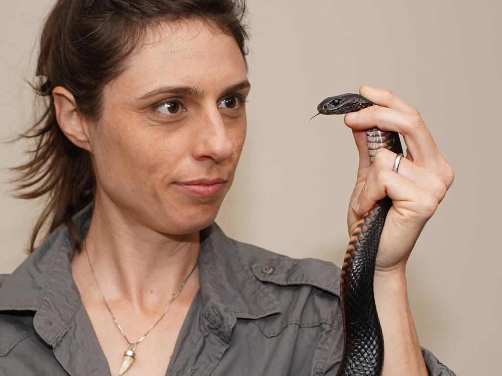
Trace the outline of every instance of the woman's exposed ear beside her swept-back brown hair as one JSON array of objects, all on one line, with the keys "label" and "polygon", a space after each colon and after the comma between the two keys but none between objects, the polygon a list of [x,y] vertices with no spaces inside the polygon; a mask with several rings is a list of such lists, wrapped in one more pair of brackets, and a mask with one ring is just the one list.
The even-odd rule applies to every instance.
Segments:
[{"label": "woman's exposed ear beside her swept-back brown hair", "polygon": [[61,131],[75,145],[91,152],[88,122],[78,111],[73,94],[63,86],[56,86],[52,90],[52,95]]}]

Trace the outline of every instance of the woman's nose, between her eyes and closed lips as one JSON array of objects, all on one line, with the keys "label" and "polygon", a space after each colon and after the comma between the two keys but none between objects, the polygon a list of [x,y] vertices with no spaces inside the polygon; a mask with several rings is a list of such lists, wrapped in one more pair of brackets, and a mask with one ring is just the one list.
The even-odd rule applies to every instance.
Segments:
[{"label": "woman's nose, between her eyes and closed lips", "polygon": [[233,151],[233,142],[218,109],[205,111],[200,121],[200,137],[194,150],[195,158],[211,158],[216,162],[228,159]]}]

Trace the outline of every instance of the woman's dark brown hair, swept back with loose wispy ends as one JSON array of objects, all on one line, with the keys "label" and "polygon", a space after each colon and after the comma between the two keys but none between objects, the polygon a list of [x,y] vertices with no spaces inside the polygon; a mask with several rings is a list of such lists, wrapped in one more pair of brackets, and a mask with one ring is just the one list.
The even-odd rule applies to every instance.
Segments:
[{"label": "woman's dark brown hair, swept back with loose wispy ends", "polygon": [[[88,4],[91,6],[85,7]],[[20,173],[11,180],[19,182],[15,197],[48,195],[33,228],[28,254],[35,250],[37,236],[48,219],[52,222],[46,236],[65,224],[80,250],[82,239],[71,217],[95,194],[91,155],[75,146],[59,128],[52,90],[65,87],[73,94],[82,116],[99,119],[103,87],[127,68],[128,58],[139,51],[147,33],[165,22],[201,19],[216,32],[233,36],[245,62],[245,7],[245,0],[57,1],[42,29],[38,82],[28,82],[38,100],[44,102],[44,111],[26,132],[9,141],[36,141],[34,150],[27,151],[31,154],[29,161],[10,168]]]}]

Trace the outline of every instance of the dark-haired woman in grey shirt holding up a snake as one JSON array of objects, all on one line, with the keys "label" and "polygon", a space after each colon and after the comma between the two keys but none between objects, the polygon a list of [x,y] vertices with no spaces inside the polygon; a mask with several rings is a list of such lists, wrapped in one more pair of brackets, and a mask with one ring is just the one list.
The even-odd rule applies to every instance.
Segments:
[{"label": "dark-haired woman in grey shirt holding up a snake", "polygon": [[[0,288],[0,374],[336,373],[340,269],[214,223],[246,132],[243,12],[229,0],[57,2],[41,39],[38,152],[18,167],[26,187],[42,181],[24,197],[51,200]],[[383,374],[450,375],[419,345],[404,272],[453,171],[417,110],[384,89],[360,94],[380,106],[345,117],[360,151],[349,230],[394,200],[375,270]],[[362,130],[374,124],[404,134],[399,174],[391,152],[370,166]]]}]

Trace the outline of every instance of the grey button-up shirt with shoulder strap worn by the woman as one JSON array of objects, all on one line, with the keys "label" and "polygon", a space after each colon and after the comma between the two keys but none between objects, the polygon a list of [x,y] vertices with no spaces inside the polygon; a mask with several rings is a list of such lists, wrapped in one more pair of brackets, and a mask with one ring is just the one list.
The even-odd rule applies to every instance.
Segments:
[{"label": "grey button-up shirt with shoulder strap worn by the woman", "polygon": [[[73,216],[82,237],[92,210]],[[238,242],[215,222],[200,240],[200,288],[166,354],[166,376],[334,376],[344,335],[340,268]],[[0,275],[0,375],[110,375],[72,277],[74,246],[61,225]],[[454,375],[422,353],[430,375]]]}]

